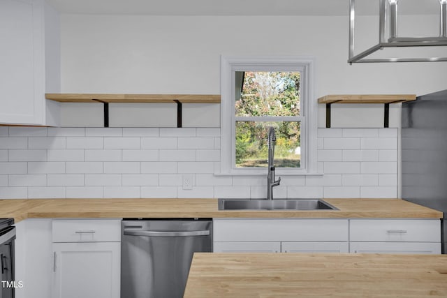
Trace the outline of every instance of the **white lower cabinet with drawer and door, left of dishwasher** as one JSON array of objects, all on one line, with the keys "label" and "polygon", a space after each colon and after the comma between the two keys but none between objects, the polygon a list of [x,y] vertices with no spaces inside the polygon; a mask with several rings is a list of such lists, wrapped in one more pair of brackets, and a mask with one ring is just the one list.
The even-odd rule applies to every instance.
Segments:
[{"label": "white lower cabinet with drawer and door, left of dishwasher", "polygon": [[53,298],[119,298],[120,221],[52,222]]}]

